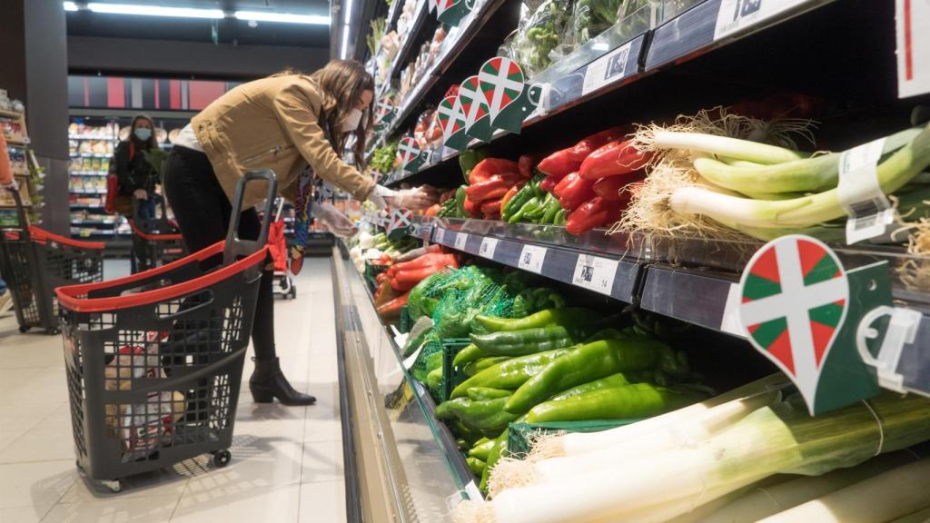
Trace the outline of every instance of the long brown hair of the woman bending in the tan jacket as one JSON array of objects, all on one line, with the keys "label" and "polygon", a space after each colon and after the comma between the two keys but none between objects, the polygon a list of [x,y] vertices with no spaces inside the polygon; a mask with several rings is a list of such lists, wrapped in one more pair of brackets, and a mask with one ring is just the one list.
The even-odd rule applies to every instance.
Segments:
[{"label": "long brown hair of the woman bending in the tan jacket", "polygon": [[[364,91],[374,92],[375,79],[365,71],[365,66],[356,60],[330,60],[326,67],[311,74],[311,79],[323,94],[320,125],[326,130],[336,153],[341,155],[345,150],[346,141],[349,140],[349,133],[339,130],[339,122],[362,100]],[[365,134],[374,121],[374,109],[375,101],[372,101],[354,131],[355,144],[352,154],[355,156],[355,165],[360,170],[365,169]]]}]

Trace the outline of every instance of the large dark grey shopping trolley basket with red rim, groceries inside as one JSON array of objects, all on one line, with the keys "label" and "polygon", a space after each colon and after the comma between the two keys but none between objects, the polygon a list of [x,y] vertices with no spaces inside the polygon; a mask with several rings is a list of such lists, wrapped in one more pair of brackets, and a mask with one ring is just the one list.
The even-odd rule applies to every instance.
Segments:
[{"label": "large dark grey shopping trolley basket with red rim, groceries inside", "polygon": [[[177,262],[103,283],[56,289],[77,464],[119,491],[119,478],[212,453],[229,463],[268,222],[255,241],[236,230],[237,187],[225,241]],[[271,205],[271,204],[267,204]],[[266,214],[266,216],[270,216]],[[222,256],[219,268],[202,262]]]}]

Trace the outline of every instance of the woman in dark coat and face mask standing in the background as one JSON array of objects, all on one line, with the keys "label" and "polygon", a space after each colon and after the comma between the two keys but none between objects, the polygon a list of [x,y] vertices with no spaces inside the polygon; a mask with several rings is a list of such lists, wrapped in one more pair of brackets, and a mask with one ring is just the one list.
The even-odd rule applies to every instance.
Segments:
[{"label": "woman in dark coat and face mask standing in the background", "polygon": [[[153,202],[155,184],[159,182],[155,169],[145,158],[144,152],[158,149],[155,140],[155,125],[152,118],[138,114],[129,127],[129,139],[121,141],[113,152],[110,162],[110,176],[116,179],[116,196],[113,210],[130,220],[137,218],[148,220],[154,218]],[[137,202],[137,216],[133,216],[132,201]],[[139,235],[132,236],[132,273],[144,271],[151,267],[145,240]]]}]

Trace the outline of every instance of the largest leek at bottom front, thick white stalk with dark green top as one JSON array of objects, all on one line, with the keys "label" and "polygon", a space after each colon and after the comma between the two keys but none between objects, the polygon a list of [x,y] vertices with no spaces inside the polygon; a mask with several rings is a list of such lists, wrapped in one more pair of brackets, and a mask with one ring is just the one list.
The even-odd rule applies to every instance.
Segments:
[{"label": "largest leek at bottom front, thick white stalk with dark green top", "polygon": [[[930,400],[885,393],[871,399],[870,406],[857,403],[812,418],[803,402],[792,398],[757,409],[692,448],[619,463],[604,460],[586,476],[506,489],[490,502],[460,503],[456,521],[660,521],[767,476],[824,474],[862,463],[877,451],[904,449],[930,438]],[[882,420],[881,428],[877,420]],[[672,503],[675,510],[668,509]]]}]

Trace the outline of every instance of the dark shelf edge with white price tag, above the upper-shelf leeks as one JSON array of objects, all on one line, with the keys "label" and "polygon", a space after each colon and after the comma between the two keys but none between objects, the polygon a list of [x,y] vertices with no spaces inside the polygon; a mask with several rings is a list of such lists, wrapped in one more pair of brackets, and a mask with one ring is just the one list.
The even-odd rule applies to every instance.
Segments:
[{"label": "dark shelf edge with white price tag, above the upper-shelf leeks", "polygon": [[[646,54],[645,69],[649,71],[690,60],[834,1],[783,0],[755,2],[742,7],[742,3],[732,0],[706,0],[655,30]],[[727,24],[733,29],[724,30]]]}]

